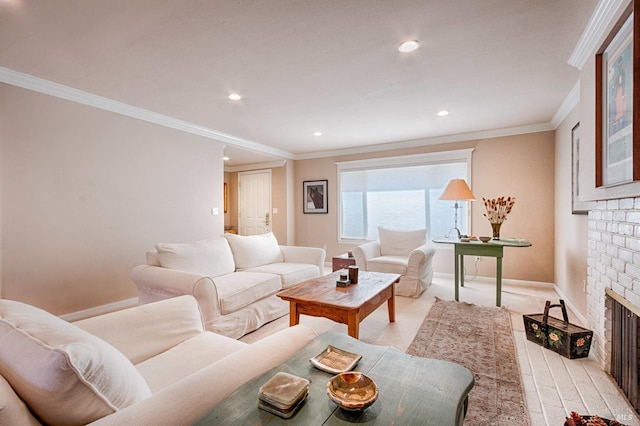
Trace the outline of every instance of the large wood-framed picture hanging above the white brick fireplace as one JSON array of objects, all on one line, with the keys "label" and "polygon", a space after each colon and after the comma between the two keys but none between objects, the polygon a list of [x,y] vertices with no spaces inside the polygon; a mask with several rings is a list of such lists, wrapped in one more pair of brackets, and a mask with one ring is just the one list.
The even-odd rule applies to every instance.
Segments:
[{"label": "large wood-framed picture hanging above the white brick fireplace", "polygon": [[[596,55],[596,186],[640,180],[633,0]],[[636,48],[636,51],[638,49]],[[634,90],[635,88],[635,90]]]}]

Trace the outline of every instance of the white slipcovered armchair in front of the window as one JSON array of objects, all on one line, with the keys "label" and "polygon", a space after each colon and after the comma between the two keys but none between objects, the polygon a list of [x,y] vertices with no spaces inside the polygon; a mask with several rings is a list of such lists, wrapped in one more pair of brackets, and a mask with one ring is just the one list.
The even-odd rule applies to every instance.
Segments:
[{"label": "white slipcovered armchair in front of the window", "polygon": [[358,268],[364,271],[400,274],[396,295],[419,297],[431,284],[436,246],[426,229],[393,231],[378,228],[379,241],[353,249]]}]

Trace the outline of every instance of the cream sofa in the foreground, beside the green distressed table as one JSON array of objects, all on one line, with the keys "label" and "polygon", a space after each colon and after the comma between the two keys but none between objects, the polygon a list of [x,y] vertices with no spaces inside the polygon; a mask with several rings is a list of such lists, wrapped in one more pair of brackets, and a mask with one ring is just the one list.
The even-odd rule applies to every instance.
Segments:
[{"label": "cream sofa in the foreground, beside the green distressed table", "polygon": [[0,425],[186,425],[316,333],[248,345],[205,331],[191,296],[68,323],[0,300]]}]

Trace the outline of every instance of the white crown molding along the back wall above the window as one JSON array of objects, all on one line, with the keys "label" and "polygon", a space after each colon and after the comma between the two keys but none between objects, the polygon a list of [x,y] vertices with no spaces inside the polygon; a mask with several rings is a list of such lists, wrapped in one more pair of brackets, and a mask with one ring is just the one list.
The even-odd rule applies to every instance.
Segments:
[{"label": "white crown molding along the back wall above the window", "polygon": [[386,144],[369,145],[366,147],[336,149],[333,151],[318,151],[308,154],[296,155],[296,160],[309,160],[313,158],[334,157],[341,155],[363,154],[366,152],[390,151],[392,149],[416,148],[428,145],[438,145],[453,142],[466,142],[478,139],[491,139],[504,136],[524,135],[527,133],[538,133],[555,130],[551,123],[532,124],[529,126],[510,127],[505,129],[487,130],[484,132],[459,133],[455,135],[436,136],[425,139],[414,139],[403,142],[392,142]]}]

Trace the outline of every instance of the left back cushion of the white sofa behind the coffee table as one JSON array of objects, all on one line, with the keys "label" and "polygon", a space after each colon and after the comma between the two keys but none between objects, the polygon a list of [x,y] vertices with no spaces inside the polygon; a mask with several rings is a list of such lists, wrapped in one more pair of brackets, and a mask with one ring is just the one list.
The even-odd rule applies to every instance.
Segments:
[{"label": "left back cushion of the white sofa behind the coffee table", "polygon": [[236,269],[231,248],[222,237],[187,244],[156,244],[163,268],[202,274],[207,277],[230,274]]}]

